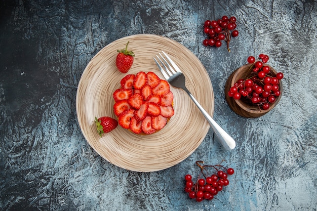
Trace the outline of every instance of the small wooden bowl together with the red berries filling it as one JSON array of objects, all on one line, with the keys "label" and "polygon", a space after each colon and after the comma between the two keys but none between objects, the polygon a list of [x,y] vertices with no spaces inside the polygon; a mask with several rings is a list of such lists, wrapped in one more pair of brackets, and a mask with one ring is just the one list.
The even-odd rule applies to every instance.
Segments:
[{"label": "small wooden bowl together with the red berries filling it", "polygon": [[269,57],[248,57],[248,64],[237,68],[228,77],[225,98],[229,107],[240,116],[255,118],[271,111],[281,100],[282,72],[267,65]]}]

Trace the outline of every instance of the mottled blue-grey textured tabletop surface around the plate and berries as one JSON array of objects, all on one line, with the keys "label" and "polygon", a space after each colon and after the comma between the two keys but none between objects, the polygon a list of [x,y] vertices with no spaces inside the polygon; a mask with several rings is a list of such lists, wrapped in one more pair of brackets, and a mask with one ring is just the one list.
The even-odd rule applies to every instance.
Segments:
[{"label": "mottled blue-grey textured tabletop surface around the plate and berries", "polygon": [[[0,1],[1,210],[316,210],[316,1]],[[237,18],[231,53],[202,45],[202,24]],[[206,67],[214,118],[236,140],[223,150],[209,131],[181,163],[154,173],[102,159],[77,123],[76,86],[111,41],[159,34],[191,50]],[[247,119],[224,99],[226,78],[264,53],[284,72],[270,113]],[[212,201],[183,192],[196,160],[232,166],[230,185]]]}]

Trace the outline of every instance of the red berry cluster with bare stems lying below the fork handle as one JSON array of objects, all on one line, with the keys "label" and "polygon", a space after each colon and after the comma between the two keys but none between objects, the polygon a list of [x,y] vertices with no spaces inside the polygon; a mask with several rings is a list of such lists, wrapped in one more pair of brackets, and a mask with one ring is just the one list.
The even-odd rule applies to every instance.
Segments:
[{"label": "red berry cluster with bare stems lying below the fork handle", "polygon": [[[189,198],[201,202],[204,199],[211,200],[219,191],[223,190],[223,186],[229,185],[228,175],[233,175],[233,168],[225,168],[222,165],[201,165],[203,161],[196,161],[196,164],[201,168],[201,174],[194,183],[192,176],[185,175],[185,192]],[[208,168],[216,170],[215,174],[209,174]],[[223,171],[222,171],[222,170]],[[204,176],[204,178],[201,177]]]}]

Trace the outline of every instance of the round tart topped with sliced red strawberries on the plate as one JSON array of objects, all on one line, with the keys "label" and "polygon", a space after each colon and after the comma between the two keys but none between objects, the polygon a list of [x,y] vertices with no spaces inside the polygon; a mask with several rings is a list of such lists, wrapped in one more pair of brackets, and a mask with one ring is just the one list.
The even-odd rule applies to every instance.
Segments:
[{"label": "round tart topped with sliced red strawberries on the plate", "polygon": [[135,134],[152,134],[174,115],[174,95],[166,80],[154,72],[128,74],[113,93],[118,124]]}]

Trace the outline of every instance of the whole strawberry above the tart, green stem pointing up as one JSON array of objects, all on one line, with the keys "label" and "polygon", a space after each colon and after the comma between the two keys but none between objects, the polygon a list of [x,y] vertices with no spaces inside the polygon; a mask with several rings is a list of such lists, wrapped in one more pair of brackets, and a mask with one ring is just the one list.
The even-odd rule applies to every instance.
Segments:
[{"label": "whole strawberry above the tart, green stem pointing up", "polygon": [[117,50],[119,53],[116,56],[115,65],[122,73],[127,73],[133,64],[134,53],[132,51],[128,51],[128,44],[129,41],[126,45],[126,49]]}]

